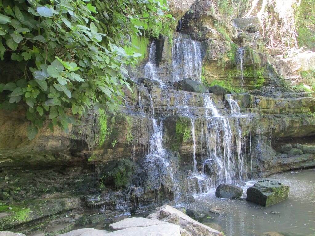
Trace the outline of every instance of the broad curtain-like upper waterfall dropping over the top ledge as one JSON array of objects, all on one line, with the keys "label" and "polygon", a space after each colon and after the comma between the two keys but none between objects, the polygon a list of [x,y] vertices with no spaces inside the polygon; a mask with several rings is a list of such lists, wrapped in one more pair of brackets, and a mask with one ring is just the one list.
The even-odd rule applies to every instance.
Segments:
[{"label": "broad curtain-like upper waterfall dropping over the top ledge", "polygon": [[175,38],[172,46],[173,81],[191,78],[201,81],[201,43]]}]

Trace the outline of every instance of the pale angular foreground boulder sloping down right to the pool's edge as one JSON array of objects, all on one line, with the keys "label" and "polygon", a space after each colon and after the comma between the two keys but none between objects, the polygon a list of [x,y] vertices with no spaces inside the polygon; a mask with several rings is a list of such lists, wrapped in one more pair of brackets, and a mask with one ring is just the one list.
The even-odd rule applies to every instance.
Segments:
[{"label": "pale angular foreground boulder sloping down right to the pool's edge", "polygon": [[[188,233],[194,236],[223,236],[220,231],[193,220],[183,212],[178,211],[169,205],[163,205],[157,208],[156,212],[148,215],[147,218],[172,223],[177,221],[180,228],[185,229]],[[174,221],[174,219],[176,219],[176,221]]]}]

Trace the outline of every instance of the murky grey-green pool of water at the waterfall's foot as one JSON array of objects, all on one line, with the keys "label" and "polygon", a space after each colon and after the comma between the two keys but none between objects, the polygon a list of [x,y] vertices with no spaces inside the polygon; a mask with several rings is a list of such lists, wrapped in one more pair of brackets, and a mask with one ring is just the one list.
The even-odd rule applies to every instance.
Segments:
[{"label": "murky grey-green pool of water at the waterfall's foot", "polygon": [[[219,225],[226,236],[259,236],[265,232],[284,235],[315,235],[315,169],[278,173],[271,176],[290,186],[288,199],[276,205],[261,207],[242,199],[220,199],[215,189],[195,196],[186,208],[207,212],[216,207],[223,215],[209,214],[200,222]],[[256,181],[247,182],[244,193]]]}]

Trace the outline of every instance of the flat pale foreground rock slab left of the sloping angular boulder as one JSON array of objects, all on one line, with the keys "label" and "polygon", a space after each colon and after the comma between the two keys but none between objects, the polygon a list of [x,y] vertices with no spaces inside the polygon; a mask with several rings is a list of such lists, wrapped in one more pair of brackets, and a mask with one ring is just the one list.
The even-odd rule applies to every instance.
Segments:
[{"label": "flat pale foreground rock slab left of the sloping angular boulder", "polygon": [[170,224],[168,222],[163,222],[159,220],[151,220],[147,218],[142,217],[132,217],[132,218],[126,218],[119,222],[113,223],[109,225],[109,228],[114,230],[120,230],[120,229],[126,229],[131,227],[146,227],[146,226],[152,226],[152,225],[159,225],[159,224]]}]

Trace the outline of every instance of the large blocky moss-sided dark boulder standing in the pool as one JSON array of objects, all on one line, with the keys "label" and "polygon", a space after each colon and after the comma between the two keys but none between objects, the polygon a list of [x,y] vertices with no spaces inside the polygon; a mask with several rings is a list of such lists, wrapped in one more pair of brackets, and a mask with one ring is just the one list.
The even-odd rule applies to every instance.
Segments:
[{"label": "large blocky moss-sided dark boulder standing in the pool", "polygon": [[265,178],[247,189],[246,200],[262,206],[270,206],[288,198],[289,186],[275,179]]}]

